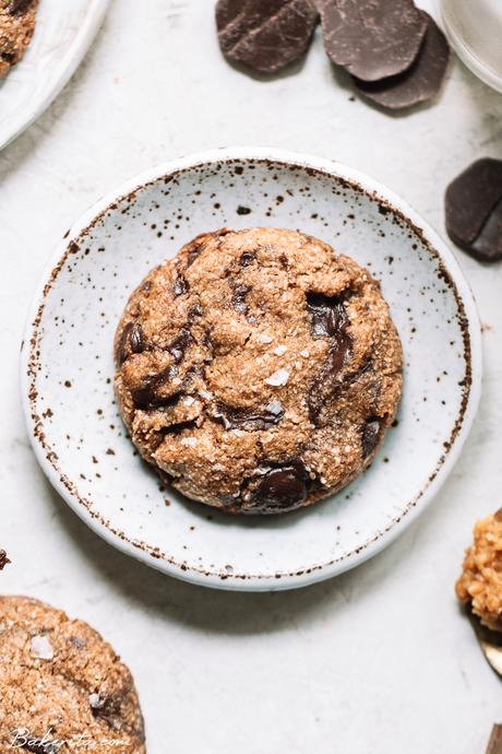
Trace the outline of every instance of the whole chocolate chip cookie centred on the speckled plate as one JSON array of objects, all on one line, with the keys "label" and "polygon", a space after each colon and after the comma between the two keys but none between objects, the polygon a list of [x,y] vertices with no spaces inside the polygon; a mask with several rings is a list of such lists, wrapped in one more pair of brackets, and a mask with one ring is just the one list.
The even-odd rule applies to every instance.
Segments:
[{"label": "whole chocolate chip cookie centred on the speckled plate", "polygon": [[201,235],[132,294],[116,392],[187,497],[277,514],[340,490],[395,417],[402,349],[379,283],[291,231]]}]

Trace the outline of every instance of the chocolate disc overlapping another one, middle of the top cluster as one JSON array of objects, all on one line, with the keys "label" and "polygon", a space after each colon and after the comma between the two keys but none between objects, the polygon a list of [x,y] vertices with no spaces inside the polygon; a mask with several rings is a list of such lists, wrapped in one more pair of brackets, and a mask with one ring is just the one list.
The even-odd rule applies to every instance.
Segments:
[{"label": "chocolate disc overlapping another one, middle of the top cluster", "polygon": [[427,31],[427,17],[413,0],[316,0],[316,5],[327,56],[363,81],[406,71]]}]

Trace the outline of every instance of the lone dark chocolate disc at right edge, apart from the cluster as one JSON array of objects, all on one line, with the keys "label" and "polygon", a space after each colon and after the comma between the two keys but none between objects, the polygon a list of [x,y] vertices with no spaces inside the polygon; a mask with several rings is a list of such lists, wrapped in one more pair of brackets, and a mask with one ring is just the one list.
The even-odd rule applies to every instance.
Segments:
[{"label": "lone dark chocolate disc at right edge, apart from the cluster", "polygon": [[502,259],[502,161],[478,160],[457,176],[446,189],[445,213],[457,246],[480,261]]}]

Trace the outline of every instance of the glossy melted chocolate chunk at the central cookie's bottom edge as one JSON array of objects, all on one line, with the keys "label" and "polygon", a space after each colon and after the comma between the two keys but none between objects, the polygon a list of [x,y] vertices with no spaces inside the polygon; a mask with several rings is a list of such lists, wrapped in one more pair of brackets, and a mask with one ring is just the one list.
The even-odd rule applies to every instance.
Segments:
[{"label": "glossy melted chocolate chunk at the central cookie's bottom edge", "polygon": [[254,491],[253,504],[265,511],[295,508],[306,499],[308,482],[303,461],[295,458],[265,473]]}]

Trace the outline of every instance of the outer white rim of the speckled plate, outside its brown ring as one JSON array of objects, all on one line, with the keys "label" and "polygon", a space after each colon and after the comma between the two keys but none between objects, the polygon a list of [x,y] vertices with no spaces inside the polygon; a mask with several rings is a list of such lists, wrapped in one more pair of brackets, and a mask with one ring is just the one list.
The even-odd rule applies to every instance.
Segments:
[{"label": "outer white rim of the speckled plate, outside its brown ring", "polygon": [[[35,426],[29,403],[28,363],[31,353],[29,343],[34,331],[36,330],[34,322],[37,313],[44,303],[44,292],[47,281],[50,279],[50,273],[58,267],[58,262],[60,262],[61,258],[64,256],[69,244],[73,239],[77,239],[81,233],[93,225],[94,222],[100,215],[103,215],[111,204],[118,202],[120,199],[133,193],[136,190],[141,190],[145,185],[154,182],[166,175],[177,173],[179,170],[186,170],[196,166],[218,163],[226,160],[272,161],[294,165],[300,168],[314,169],[328,176],[346,179],[350,184],[359,185],[364,191],[369,192],[375,198],[383,199],[384,202],[391,204],[395,210],[401,212],[404,217],[418,229],[418,232],[422,234],[425,240],[430,244],[443,262],[447,273],[456,286],[458,297],[462,299],[464,305],[470,339],[471,385],[468,393],[467,405],[465,408],[465,412],[463,413],[462,425],[455,436],[450,452],[444,459],[444,462],[441,464],[428,486],[422,490],[421,495],[416,500],[416,504],[408,506],[407,510],[402,514],[397,520],[391,522],[391,525],[384,531],[380,532],[376,538],[366,543],[366,545],[359,546],[357,551],[345,553],[335,562],[324,565],[314,565],[301,576],[283,576],[280,579],[276,579],[274,575],[271,574],[270,577],[265,575],[249,575],[246,579],[240,579],[237,577],[222,580],[219,573],[215,572],[214,574],[211,574],[205,572],[202,574],[190,568],[182,568],[181,565],[171,563],[168,559],[156,558],[147,550],[145,551],[142,547],[136,547],[134,546],[133,542],[124,541],[117,534],[112,533],[103,522],[89,515],[87,508],[82,505],[77,497],[72,494],[61,481],[60,472],[57,472],[47,458],[47,449],[41,446],[40,441],[35,436]],[[368,177],[363,173],[334,161],[273,148],[241,146],[219,149],[174,160],[146,170],[140,176],[123,184],[118,190],[99,200],[70,228],[64,239],[59,244],[55,254],[51,255],[29,308],[25,332],[25,344],[26,347],[23,349],[21,355],[21,380],[23,409],[28,437],[41,469],[46,473],[52,486],[59,492],[61,497],[99,537],[128,555],[132,555],[144,563],[147,563],[150,566],[192,584],[239,591],[271,591],[304,587],[348,570],[349,568],[352,568],[374,556],[389,544],[391,544],[429,505],[445,482],[462,451],[464,443],[473,425],[481,393],[481,328],[476,304],[469,285],[464,278],[455,257],[441,237],[427,223],[425,223],[423,220],[405,201],[386,189],[379,181]]]}]

